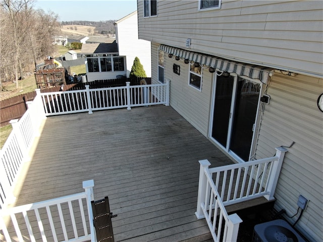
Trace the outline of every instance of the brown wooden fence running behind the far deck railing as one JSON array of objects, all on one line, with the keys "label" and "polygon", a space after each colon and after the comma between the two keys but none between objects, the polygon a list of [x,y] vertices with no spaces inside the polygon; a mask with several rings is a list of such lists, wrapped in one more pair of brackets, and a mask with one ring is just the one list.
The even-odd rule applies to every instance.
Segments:
[{"label": "brown wooden fence running behind the far deck railing", "polygon": [[[58,91],[73,91],[73,90],[85,90],[85,85],[89,85],[90,89],[94,88],[107,88],[126,86],[126,82],[130,82],[130,85],[140,85],[140,81],[145,79],[147,84],[150,84],[151,78],[121,78],[111,80],[96,80],[89,83],[74,83],[69,85],[57,86],[48,89],[42,89],[41,93],[46,92],[58,92]],[[36,92],[29,92],[21,94],[6,100],[0,101],[0,127],[9,125],[11,119],[21,118],[27,110],[27,101],[32,101],[36,96]]]}]

